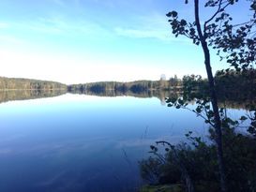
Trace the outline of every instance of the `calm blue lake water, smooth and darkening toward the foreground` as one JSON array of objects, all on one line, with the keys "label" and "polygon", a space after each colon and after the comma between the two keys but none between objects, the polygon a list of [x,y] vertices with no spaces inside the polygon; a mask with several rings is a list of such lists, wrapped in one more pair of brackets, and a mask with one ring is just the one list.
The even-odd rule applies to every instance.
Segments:
[{"label": "calm blue lake water, smooth and darkening toward the foreground", "polygon": [[1,192],[133,192],[151,144],[208,128],[156,97],[71,94],[1,103],[0,122]]}]

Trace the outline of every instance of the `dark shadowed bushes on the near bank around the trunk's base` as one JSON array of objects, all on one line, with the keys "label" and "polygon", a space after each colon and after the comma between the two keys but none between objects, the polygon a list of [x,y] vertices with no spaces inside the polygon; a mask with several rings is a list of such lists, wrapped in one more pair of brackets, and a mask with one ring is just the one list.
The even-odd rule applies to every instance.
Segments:
[{"label": "dark shadowed bushes on the near bank around the trunk's base", "polygon": [[[236,132],[234,128],[236,123],[228,119],[225,121],[230,125],[223,131],[224,157],[229,162],[226,166],[229,190],[255,191],[256,140]],[[151,178],[156,179],[154,184],[186,185],[182,176],[183,166],[188,171],[195,191],[219,191],[215,132],[210,130],[210,140],[213,142],[194,137],[191,132],[186,136],[188,142],[175,146],[166,141],[158,141],[156,146],[152,146],[151,154],[153,155],[140,163],[143,179],[148,181],[146,175],[149,171]],[[165,149],[165,153],[161,150],[161,146]],[[154,167],[155,164],[149,161],[158,162],[158,166]],[[154,171],[151,171],[153,169]]]}]

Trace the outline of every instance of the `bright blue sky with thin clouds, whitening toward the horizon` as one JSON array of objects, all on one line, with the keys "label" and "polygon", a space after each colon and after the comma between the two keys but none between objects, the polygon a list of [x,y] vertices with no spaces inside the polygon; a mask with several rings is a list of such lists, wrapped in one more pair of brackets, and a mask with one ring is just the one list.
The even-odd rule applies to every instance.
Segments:
[{"label": "bright blue sky with thin clouds, whitening toward the horizon", "polygon": [[[165,16],[176,9],[191,20],[191,6],[183,0],[0,0],[0,76],[67,84],[206,77],[201,47],[173,37]],[[214,72],[228,67],[212,55]]]}]

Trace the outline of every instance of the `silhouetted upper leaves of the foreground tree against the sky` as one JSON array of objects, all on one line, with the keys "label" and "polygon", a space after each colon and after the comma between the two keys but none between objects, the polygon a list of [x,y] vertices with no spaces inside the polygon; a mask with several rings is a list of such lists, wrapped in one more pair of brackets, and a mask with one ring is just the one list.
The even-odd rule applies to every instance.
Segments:
[{"label": "silhouetted upper leaves of the foreground tree against the sky", "polygon": [[[205,22],[203,22],[203,38],[207,39],[208,45],[218,51],[220,59],[226,59],[227,63],[236,70],[248,69],[255,66],[256,61],[256,37],[255,37],[255,19],[256,3],[254,0],[248,0],[251,17],[244,22],[233,21],[233,17],[228,12],[227,7],[237,4],[238,0],[207,0],[204,7],[215,8],[215,13]],[[187,1],[188,3],[188,1]],[[179,19],[176,11],[167,14],[172,25],[173,35],[186,36],[192,39],[196,45],[201,44],[200,31],[198,31],[196,22],[188,22]]]}]

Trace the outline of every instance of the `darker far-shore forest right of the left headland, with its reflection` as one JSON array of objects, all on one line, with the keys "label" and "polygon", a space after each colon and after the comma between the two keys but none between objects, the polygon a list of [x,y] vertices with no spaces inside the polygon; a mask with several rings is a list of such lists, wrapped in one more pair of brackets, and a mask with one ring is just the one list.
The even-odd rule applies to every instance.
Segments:
[{"label": "darker far-shore forest right of the left headland, with its reflection", "polygon": [[[256,70],[221,70],[215,75],[217,92],[220,97],[233,98],[236,96],[256,96]],[[159,81],[101,81],[84,84],[68,85],[68,92],[81,94],[103,94],[113,92],[116,95],[126,95],[128,92],[140,94],[153,91],[168,91],[173,93],[195,93],[201,96],[208,95],[208,83],[200,75],[188,75],[182,79],[176,76],[170,80]],[[238,94],[239,93],[239,94]]]}]

